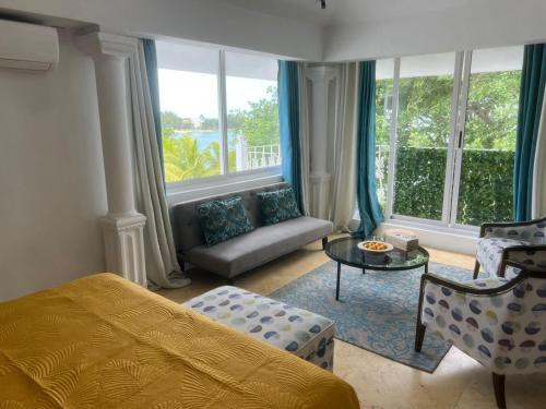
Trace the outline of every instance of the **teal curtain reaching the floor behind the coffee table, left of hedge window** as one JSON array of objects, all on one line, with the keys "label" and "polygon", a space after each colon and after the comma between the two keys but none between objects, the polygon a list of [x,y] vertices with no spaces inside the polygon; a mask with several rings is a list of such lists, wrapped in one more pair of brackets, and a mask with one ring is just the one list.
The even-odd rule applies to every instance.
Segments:
[{"label": "teal curtain reaching the floor behind the coffee table, left of hedge window", "polygon": [[360,226],[353,232],[369,236],[383,221],[376,187],[376,61],[358,64],[356,200]]}]

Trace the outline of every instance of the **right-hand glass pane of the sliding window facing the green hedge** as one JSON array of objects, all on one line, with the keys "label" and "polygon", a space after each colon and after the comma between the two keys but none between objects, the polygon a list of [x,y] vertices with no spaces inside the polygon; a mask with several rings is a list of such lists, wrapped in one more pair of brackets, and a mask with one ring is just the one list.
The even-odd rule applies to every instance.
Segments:
[{"label": "right-hand glass pane of the sliding window facing the green hedge", "polygon": [[[458,224],[513,220],[512,178],[523,47],[467,53],[470,75],[460,130]],[[458,205],[459,204],[459,205]],[[492,216],[495,216],[492,218]]]}]

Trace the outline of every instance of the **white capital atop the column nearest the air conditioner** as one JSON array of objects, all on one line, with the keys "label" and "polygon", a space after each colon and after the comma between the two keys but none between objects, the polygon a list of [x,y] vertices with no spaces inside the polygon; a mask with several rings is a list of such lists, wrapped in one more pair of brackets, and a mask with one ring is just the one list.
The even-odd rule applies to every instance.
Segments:
[{"label": "white capital atop the column nearest the air conditioner", "polygon": [[76,44],[80,49],[93,58],[109,56],[121,59],[136,52],[139,46],[136,38],[104,32],[94,32],[80,36]]}]

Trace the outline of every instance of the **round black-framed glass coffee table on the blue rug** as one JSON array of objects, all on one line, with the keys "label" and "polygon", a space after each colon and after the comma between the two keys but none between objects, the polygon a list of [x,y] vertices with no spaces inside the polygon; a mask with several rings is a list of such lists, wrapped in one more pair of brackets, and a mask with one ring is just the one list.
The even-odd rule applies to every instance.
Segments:
[{"label": "round black-framed glass coffee table on the blue rug", "polygon": [[[365,239],[358,237],[344,237],[329,242],[324,249],[327,255],[337,262],[337,282],[335,285],[335,300],[340,300],[341,265],[375,270],[402,270],[425,267],[428,273],[428,252],[419,246],[411,252],[393,249],[387,254],[370,254],[357,248]],[[373,240],[370,239],[370,240]]]}]

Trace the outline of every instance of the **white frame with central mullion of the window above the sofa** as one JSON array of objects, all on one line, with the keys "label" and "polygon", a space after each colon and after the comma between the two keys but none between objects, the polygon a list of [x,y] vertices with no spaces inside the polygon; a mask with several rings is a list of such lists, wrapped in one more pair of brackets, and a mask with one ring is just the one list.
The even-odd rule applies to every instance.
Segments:
[{"label": "white frame with central mullion of the window above the sofa", "polygon": [[[242,52],[242,51],[237,51]],[[263,57],[263,56],[261,56]],[[274,59],[271,57],[271,59]],[[192,178],[177,182],[165,182],[167,195],[181,196],[185,191],[209,190],[230,183],[251,182],[253,180],[282,181],[282,165],[266,166],[258,169],[229,171],[228,123],[227,123],[227,89],[226,89],[226,50],[217,49],[217,101],[221,164],[219,175]],[[278,87],[278,84],[277,84]],[[278,89],[278,88],[277,88]],[[161,100],[161,97],[159,97]],[[281,135],[280,143],[281,143]],[[163,136],[162,136],[163,137]],[[281,161],[283,158],[281,157]]]}]

